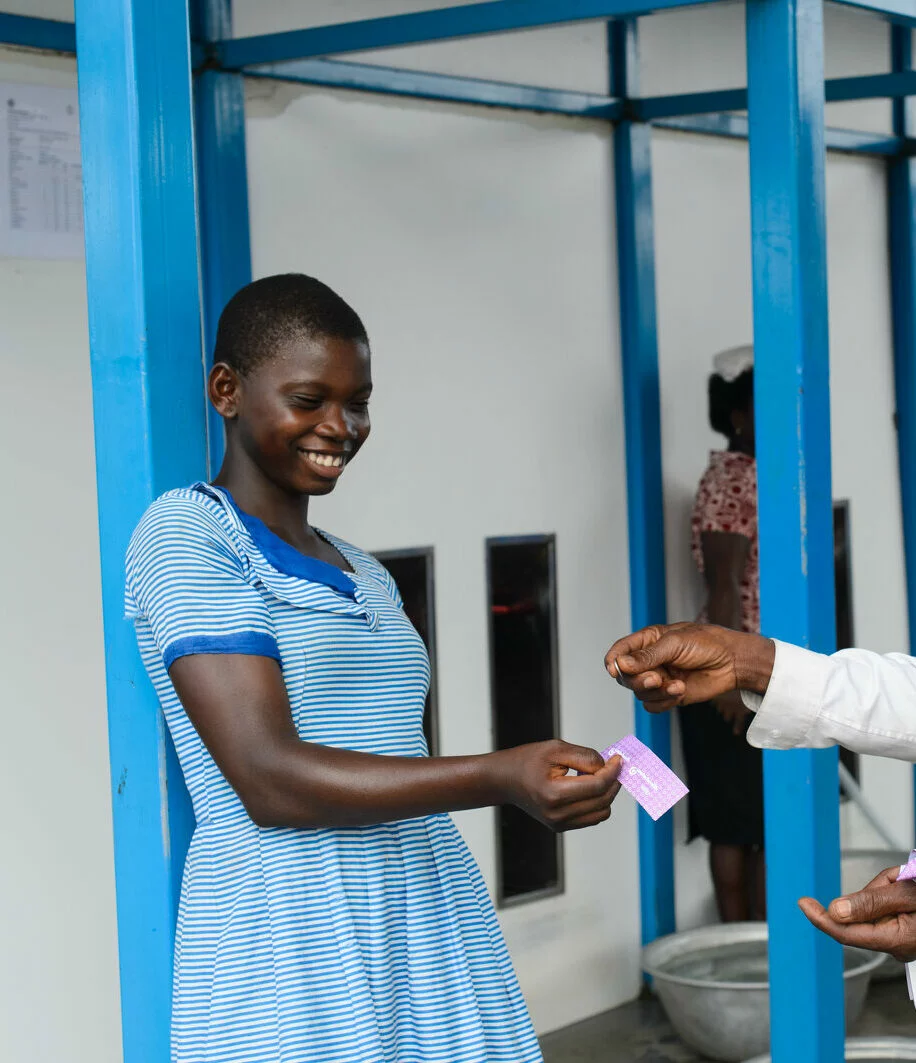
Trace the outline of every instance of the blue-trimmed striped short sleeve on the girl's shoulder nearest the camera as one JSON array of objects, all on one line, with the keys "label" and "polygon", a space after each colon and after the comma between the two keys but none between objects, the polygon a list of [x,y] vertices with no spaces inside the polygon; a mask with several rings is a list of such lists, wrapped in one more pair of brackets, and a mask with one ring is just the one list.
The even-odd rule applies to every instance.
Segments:
[{"label": "blue-trimmed striped short sleeve on the girl's shoulder nearest the camera", "polygon": [[147,510],[126,558],[126,613],[145,619],[166,668],[191,654],[281,659],[267,604],[217,517],[190,497]]}]

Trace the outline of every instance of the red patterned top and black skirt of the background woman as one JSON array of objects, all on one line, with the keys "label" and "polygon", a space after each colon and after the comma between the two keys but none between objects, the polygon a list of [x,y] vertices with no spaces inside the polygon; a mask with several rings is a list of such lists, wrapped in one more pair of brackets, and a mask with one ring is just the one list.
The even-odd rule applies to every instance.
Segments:
[{"label": "red patterned top and black skirt of the background woman", "polygon": [[[723,532],[748,539],[741,583],[741,624],[760,631],[760,554],[757,539],[757,462],[747,454],[713,451],[700,479],[692,521],[692,552],[703,571],[702,535]],[[706,611],[700,621],[707,619]],[[678,710],[690,796],[690,837],[720,845],[763,845],[763,758],[744,733],[735,735],[715,706]],[[746,721],[746,727],[750,719]],[[746,730],[745,727],[745,730]]]}]

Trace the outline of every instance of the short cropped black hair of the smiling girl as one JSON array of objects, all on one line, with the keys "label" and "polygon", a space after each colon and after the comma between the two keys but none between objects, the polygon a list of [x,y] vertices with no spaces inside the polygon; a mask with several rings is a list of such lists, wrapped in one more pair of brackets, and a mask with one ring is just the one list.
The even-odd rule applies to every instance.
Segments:
[{"label": "short cropped black hair of the smiling girl", "polygon": [[304,273],[278,273],[245,285],[226,303],[214,362],[247,376],[282,344],[300,337],[369,343],[359,315],[326,284]]}]

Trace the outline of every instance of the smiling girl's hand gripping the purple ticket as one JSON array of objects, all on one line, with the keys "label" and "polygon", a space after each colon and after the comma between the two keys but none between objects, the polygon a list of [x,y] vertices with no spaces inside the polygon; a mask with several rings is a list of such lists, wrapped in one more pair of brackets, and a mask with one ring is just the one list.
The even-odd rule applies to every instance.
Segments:
[{"label": "smiling girl's hand gripping the purple ticket", "polygon": [[604,823],[621,789],[621,758],[606,764],[599,753],[582,745],[554,740],[492,756],[509,804],[552,830]]}]

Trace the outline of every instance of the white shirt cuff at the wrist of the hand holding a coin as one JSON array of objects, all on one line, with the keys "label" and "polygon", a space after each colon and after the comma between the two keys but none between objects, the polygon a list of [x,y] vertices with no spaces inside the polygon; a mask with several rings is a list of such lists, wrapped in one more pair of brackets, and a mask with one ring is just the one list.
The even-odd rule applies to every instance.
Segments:
[{"label": "white shirt cuff at the wrist of the hand holding a coin", "polygon": [[805,740],[824,706],[830,658],[787,642],[774,643],[776,660],[766,693],[761,697],[742,691],[744,704],[756,713],[747,740],[762,749],[794,749],[810,744]]}]

